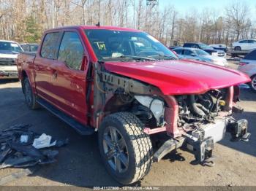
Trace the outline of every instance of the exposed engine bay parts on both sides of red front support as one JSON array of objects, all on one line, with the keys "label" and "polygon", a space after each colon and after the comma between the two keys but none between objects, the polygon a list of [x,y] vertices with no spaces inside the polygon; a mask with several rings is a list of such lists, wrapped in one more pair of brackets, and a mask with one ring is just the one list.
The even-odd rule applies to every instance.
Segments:
[{"label": "exposed engine bay parts on both sides of red front support", "polygon": [[[214,122],[219,112],[225,110],[227,90],[211,90],[201,95],[177,95],[178,127],[185,131],[193,130],[200,124]],[[160,98],[135,95],[138,101],[133,107],[138,118],[146,126],[159,127],[165,125],[165,102]],[[154,118],[152,120],[151,118]],[[151,121],[148,123],[147,121]],[[152,124],[152,122],[154,122]]]}]

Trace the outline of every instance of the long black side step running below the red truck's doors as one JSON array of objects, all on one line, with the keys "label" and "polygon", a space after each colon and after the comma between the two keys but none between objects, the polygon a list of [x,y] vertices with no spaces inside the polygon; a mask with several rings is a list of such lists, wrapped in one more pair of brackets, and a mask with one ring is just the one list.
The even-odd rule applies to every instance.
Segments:
[{"label": "long black side step running below the red truck's doors", "polygon": [[42,98],[37,98],[37,103],[40,104],[45,109],[47,109],[52,114],[59,117],[64,122],[67,122],[67,124],[70,125],[72,128],[74,128],[80,135],[89,136],[94,133],[94,128],[91,128],[90,126],[82,125],[80,122],[72,119],[72,117],[69,117],[64,112],[61,112],[55,106],[52,106],[51,104],[49,104],[48,101],[45,101]]}]

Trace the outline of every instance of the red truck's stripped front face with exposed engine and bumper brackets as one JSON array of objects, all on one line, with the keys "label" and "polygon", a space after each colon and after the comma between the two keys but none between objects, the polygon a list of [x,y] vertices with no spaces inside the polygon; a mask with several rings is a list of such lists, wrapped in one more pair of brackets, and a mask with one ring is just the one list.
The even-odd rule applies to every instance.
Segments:
[{"label": "red truck's stripped front face with exposed engine and bumper brackets", "polygon": [[[200,95],[177,95],[173,98],[173,113],[178,116],[176,124],[167,124],[167,133],[172,136],[154,154],[159,161],[168,152],[186,147],[193,152],[198,163],[212,165],[214,144],[222,140],[226,132],[231,133],[232,141],[248,141],[246,120],[236,121],[232,117],[234,88],[210,90]],[[178,106],[178,109],[177,107]],[[241,110],[240,110],[241,111]],[[178,136],[181,135],[181,136]]]}]

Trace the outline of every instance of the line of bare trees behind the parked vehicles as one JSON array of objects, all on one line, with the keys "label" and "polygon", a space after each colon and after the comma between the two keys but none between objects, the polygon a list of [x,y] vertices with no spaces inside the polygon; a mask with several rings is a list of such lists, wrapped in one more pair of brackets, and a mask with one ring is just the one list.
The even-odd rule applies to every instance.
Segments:
[{"label": "line of bare trees behind the parked vehicles", "polygon": [[160,9],[146,6],[146,0],[0,0],[0,39],[39,42],[48,28],[100,22],[138,28],[166,45],[231,44],[256,38],[252,8],[244,1],[230,1],[222,15],[210,8],[181,14],[175,4]]}]

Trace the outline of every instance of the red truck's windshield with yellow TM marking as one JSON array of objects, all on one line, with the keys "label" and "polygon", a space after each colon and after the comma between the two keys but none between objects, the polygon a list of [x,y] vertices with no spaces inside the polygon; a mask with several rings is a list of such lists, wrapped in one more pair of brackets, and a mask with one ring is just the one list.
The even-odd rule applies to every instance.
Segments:
[{"label": "red truck's windshield with yellow TM marking", "polygon": [[103,29],[85,30],[99,61],[138,59],[177,59],[153,36],[143,32],[110,31]]}]

